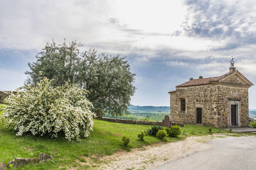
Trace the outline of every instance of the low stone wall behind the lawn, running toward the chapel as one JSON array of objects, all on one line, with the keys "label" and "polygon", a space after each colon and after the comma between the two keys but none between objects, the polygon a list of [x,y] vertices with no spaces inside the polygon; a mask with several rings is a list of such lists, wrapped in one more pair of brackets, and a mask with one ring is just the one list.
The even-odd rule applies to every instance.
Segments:
[{"label": "low stone wall behind the lawn, running toward the chapel", "polygon": [[[163,125],[163,122],[152,122],[152,121],[144,121],[144,120],[126,120],[119,118],[98,118],[99,120],[105,120],[108,122],[115,122],[121,124],[134,124],[134,125]],[[176,124],[172,123],[171,125],[179,125],[180,127],[184,127],[184,124]]]}]

